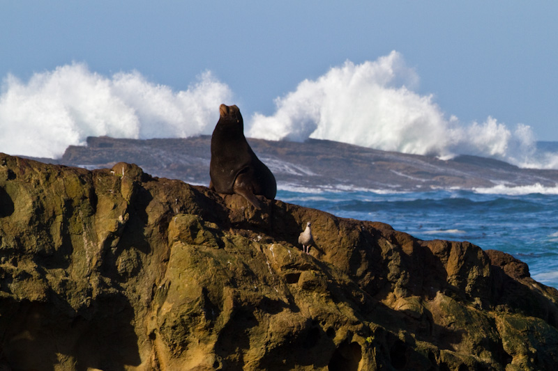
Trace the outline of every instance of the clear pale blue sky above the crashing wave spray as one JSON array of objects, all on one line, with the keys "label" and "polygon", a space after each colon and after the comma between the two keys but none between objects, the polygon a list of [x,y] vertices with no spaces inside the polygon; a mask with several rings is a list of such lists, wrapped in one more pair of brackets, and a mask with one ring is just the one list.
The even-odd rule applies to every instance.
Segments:
[{"label": "clear pale blue sky above the crashing wave spray", "polygon": [[188,88],[204,70],[246,118],[349,60],[397,51],[446,116],[558,141],[556,1],[4,1],[0,77],[86,63]]}]

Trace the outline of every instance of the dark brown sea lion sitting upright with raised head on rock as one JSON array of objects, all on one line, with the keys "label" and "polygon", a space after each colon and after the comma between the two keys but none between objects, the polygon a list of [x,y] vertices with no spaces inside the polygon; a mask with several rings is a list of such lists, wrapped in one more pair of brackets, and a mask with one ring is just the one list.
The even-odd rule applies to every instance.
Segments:
[{"label": "dark brown sea lion sitting upright with raised head on rock", "polygon": [[261,209],[255,195],[273,200],[277,194],[275,177],[246,141],[239,107],[221,104],[219,111],[220,118],[211,136],[209,189],[218,194],[239,194]]}]

